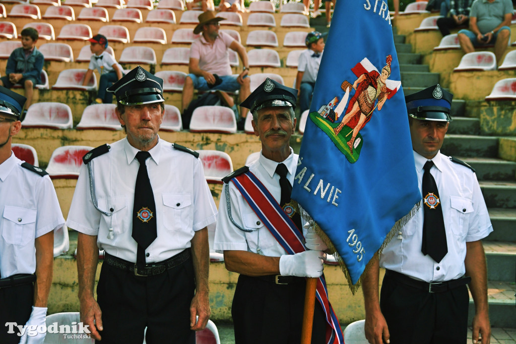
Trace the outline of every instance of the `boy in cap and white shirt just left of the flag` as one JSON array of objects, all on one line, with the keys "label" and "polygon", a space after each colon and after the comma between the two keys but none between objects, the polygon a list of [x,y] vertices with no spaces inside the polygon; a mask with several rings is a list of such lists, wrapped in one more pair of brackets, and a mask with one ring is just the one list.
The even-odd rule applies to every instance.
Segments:
[{"label": "boy in cap and white shirt just left of the flag", "polygon": [[296,76],[296,89],[298,90],[301,114],[310,108],[322,51],[325,46],[324,35],[320,32],[312,31],[307,35],[305,44],[307,44],[308,49],[299,55]]}]

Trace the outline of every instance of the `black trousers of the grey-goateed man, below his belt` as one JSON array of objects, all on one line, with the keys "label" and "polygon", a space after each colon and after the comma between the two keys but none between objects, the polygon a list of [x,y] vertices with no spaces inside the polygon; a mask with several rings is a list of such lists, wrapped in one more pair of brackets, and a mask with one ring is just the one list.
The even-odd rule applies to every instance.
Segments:
[{"label": "black trousers of the grey-goateed man, below his belt", "polygon": [[140,277],[102,264],[97,285],[104,330],[97,344],[193,344],[190,303],[195,292],[191,258],[164,273]]}]

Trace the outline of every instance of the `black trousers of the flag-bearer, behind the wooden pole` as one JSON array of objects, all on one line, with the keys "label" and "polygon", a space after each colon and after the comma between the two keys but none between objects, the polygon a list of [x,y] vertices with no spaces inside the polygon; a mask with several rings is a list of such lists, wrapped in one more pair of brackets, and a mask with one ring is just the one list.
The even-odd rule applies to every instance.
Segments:
[{"label": "black trousers of the flag-bearer, behind the wooden pole", "polygon": [[[306,283],[277,285],[240,275],[231,315],[235,344],[299,344]],[[326,320],[315,301],[312,344],[325,343]]]}]

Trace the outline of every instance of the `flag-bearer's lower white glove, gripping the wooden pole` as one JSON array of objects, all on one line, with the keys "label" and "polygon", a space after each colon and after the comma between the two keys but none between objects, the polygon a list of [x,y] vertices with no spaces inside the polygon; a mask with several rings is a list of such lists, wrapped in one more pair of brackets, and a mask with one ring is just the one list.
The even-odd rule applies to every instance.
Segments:
[{"label": "flag-bearer's lower white glove, gripping the wooden pole", "polygon": [[321,251],[305,251],[280,257],[282,276],[319,277],[322,275]]}]

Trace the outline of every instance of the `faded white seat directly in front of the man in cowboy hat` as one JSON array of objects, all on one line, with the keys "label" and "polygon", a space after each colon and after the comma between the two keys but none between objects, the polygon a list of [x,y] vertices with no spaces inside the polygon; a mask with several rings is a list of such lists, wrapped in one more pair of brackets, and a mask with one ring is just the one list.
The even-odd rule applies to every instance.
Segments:
[{"label": "faded white seat directly in front of the man in cowboy hat", "polygon": [[235,113],[225,106],[199,106],[193,110],[191,132],[236,133]]}]

